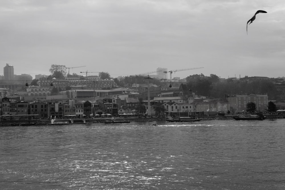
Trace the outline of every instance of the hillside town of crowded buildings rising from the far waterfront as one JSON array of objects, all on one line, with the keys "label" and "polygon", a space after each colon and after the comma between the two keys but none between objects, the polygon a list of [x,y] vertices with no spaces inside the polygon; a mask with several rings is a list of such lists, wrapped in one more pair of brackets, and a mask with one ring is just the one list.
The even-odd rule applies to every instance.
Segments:
[{"label": "hillside town of crowded buildings rising from the far waterfront", "polygon": [[[285,109],[285,102],[282,101],[285,91],[284,78],[221,79],[214,76],[217,82],[221,84],[230,82],[231,86],[241,81],[247,81],[247,83],[270,81],[279,92],[278,101],[270,99],[266,91],[235,92],[219,97],[209,97],[206,93],[200,94],[194,89],[187,88],[187,78],[172,79],[172,71],[168,71],[167,68],[157,68],[153,72],[135,75],[134,81],[130,83],[122,82],[125,77],[114,79],[104,72],[99,75],[90,75],[92,72],[87,70],[83,75],[77,75],[70,74],[69,68],[65,69],[68,69],[68,73],[61,73],[62,76],[56,75],[55,70],[54,74],[36,75],[33,79],[27,74],[14,75],[13,66],[6,64],[4,76],[0,80],[2,100],[0,115],[34,115],[36,119],[47,119],[50,116],[57,118],[160,117],[181,113],[217,115],[245,112],[249,102],[255,103],[257,111],[266,112],[269,101],[273,101],[277,109]],[[170,79],[167,77],[168,72]],[[107,77],[102,78],[104,74]]]}]

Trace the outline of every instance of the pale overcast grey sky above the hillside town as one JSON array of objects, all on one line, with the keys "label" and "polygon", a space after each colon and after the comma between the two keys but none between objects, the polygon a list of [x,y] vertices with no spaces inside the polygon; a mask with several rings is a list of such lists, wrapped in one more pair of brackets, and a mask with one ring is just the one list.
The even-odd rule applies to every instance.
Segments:
[{"label": "pale overcast grey sky above the hillside town", "polygon": [[[268,13],[247,34],[257,10]],[[0,67],[33,77],[52,64],[111,77],[159,67],[203,67],[172,74],[181,78],[282,77],[284,10],[283,0],[1,0]]]}]

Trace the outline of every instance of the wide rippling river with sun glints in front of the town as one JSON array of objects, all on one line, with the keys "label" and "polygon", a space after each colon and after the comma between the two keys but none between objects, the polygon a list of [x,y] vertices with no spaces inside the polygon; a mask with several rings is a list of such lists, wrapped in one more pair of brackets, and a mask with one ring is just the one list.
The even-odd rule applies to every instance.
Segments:
[{"label": "wide rippling river with sun glints in front of the town", "polygon": [[0,187],[285,189],[284,121],[0,127]]}]

